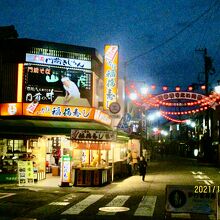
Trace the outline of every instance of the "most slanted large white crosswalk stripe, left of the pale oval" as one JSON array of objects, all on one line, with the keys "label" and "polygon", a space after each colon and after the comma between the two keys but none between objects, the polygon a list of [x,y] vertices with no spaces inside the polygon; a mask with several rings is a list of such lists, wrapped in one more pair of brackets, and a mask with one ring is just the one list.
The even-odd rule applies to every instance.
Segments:
[{"label": "most slanted large white crosswalk stripe, left of the pale oval", "polygon": [[61,215],[77,215],[83,210],[85,210],[87,207],[92,205],[93,203],[97,202],[99,199],[101,199],[104,195],[90,195],[84,200],[78,202],[74,206],[70,207],[66,211],[64,211]]}]

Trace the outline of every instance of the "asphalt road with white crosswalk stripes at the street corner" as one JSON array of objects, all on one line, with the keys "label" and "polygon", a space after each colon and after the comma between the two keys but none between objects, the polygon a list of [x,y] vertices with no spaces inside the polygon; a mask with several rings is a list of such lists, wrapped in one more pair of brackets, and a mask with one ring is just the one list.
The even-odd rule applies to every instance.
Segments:
[{"label": "asphalt road with white crosswalk stripes at the street corner", "polygon": [[[167,187],[190,185],[193,191],[200,190],[197,195],[201,195],[203,186],[206,190],[216,187],[216,191],[220,187],[219,171],[220,168],[198,164],[194,159],[169,156],[149,162],[145,182],[133,175],[95,188],[0,185],[0,220],[161,220],[165,218]],[[180,204],[184,199],[177,202]],[[216,219],[213,214],[175,211],[169,218]]]}]

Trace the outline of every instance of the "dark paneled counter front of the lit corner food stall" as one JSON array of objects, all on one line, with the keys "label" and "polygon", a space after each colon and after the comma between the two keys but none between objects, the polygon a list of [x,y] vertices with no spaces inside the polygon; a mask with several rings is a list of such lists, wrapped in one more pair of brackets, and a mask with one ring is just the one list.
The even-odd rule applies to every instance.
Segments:
[{"label": "dark paneled counter front of the lit corner food stall", "polygon": [[111,182],[112,167],[73,168],[74,186],[102,186]]}]

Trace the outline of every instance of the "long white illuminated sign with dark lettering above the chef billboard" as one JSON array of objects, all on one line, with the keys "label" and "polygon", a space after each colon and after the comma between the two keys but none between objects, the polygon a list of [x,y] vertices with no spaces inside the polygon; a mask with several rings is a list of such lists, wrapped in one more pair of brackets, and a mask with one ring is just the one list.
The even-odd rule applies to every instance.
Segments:
[{"label": "long white illuminated sign with dark lettering above the chef billboard", "polygon": [[91,61],[88,60],[78,60],[78,59],[26,53],[26,61],[31,63],[45,64],[45,65],[91,69]]}]

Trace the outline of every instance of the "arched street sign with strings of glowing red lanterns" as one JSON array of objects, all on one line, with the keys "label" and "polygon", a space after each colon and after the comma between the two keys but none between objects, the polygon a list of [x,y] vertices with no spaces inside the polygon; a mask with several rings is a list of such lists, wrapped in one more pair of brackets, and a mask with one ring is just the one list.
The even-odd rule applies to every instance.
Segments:
[{"label": "arched street sign with strings of glowing red lanterns", "polygon": [[148,109],[160,108],[161,115],[164,118],[177,123],[185,122],[186,119],[175,119],[176,116],[195,114],[220,104],[220,94],[217,93],[205,96],[195,92],[175,91],[144,96],[134,84],[126,87],[127,96],[130,96],[132,93],[135,93],[137,96],[137,99],[133,100],[135,105]]}]

